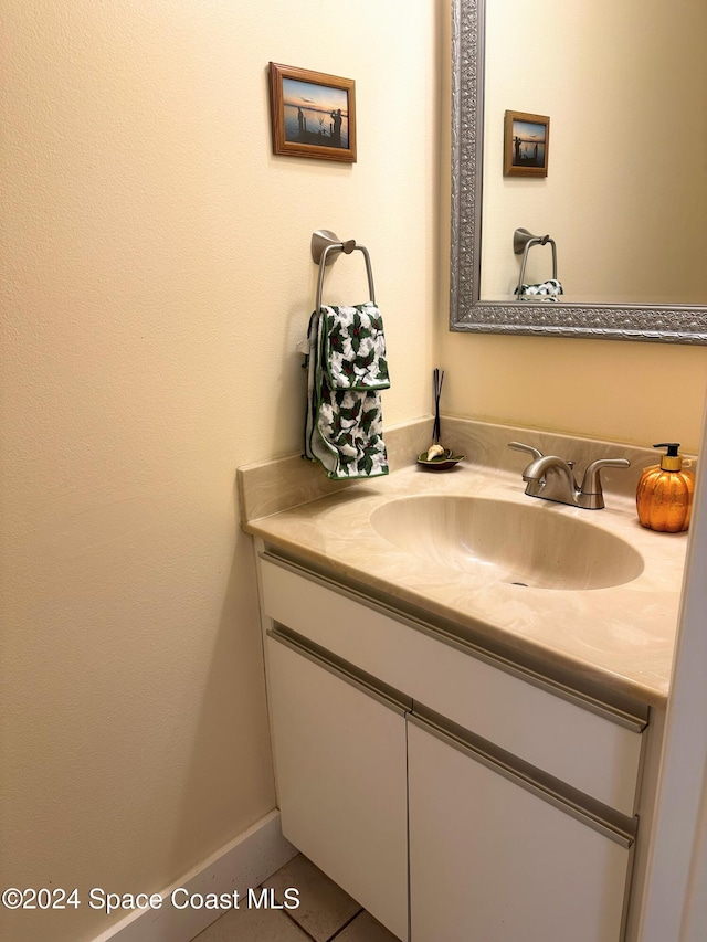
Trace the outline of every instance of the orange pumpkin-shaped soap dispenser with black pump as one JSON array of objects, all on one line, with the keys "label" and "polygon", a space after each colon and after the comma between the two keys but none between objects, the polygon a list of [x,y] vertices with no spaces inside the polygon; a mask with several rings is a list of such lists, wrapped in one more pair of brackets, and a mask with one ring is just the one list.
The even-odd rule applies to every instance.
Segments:
[{"label": "orange pumpkin-shaped soap dispenser with black pump", "polygon": [[646,468],[636,489],[639,520],[650,530],[679,533],[689,527],[695,476],[683,468],[679,443],[664,442],[667,448],[659,465]]}]

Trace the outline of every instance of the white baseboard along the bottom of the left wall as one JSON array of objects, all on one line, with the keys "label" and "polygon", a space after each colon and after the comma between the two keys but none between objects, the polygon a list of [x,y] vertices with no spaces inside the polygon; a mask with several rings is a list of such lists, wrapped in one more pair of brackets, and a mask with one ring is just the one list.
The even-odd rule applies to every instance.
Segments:
[{"label": "white baseboard along the bottom of the left wall", "polygon": [[[228,910],[205,906],[194,909],[186,904],[188,899],[196,893],[232,896],[234,890],[245,896],[249,889],[258,887],[296,854],[297,849],[282,835],[279,812],[273,811],[173,886],[159,892],[157,896],[162,899],[159,908],[130,912],[97,935],[94,942],[190,942]],[[186,892],[181,892],[181,888]],[[175,906],[171,895],[177,889],[180,892]]]}]

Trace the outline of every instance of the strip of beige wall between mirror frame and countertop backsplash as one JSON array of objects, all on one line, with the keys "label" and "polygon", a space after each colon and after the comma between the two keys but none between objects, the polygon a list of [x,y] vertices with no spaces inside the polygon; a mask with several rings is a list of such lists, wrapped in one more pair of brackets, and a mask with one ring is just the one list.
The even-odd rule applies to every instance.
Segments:
[{"label": "strip of beige wall between mirror frame and countertop backsplash", "polygon": [[454,415],[699,448],[705,347],[443,332],[440,362]]}]

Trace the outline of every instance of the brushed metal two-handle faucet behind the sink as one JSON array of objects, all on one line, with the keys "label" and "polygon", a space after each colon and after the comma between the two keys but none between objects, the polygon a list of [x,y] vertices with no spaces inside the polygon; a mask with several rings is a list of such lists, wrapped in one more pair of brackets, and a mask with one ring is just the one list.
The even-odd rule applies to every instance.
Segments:
[{"label": "brushed metal two-handle faucet behind the sink", "polygon": [[529,497],[542,497],[545,500],[569,504],[570,507],[582,507],[584,510],[601,510],[604,506],[600,476],[602,468],[631,467],[631,462],[626,458],[599,458],[587,466],[579,486],[574,478],[574,462],[566,462],[557,455],[544,455],[538,448],[523,442],[509,442],[508,447],[532,455],[532,461],[523,472],[523,479],[527,485],[526,494]]}]

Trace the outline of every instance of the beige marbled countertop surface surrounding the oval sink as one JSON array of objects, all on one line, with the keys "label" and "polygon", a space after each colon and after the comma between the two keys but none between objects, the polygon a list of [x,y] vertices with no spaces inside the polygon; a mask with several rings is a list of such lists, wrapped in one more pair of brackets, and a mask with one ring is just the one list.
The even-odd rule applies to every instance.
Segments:
[{"label": "beige marbled countertop surface surrounding the oval sink", "polygon": [[[633,499],[606,495],[603,510],[527,497],[519,474],[461,464],[451,472],[415,465],[268,517],[244,529],[319,571],[473,629],[506,649],[577,679],[652,706],[668,692],[687,533],[655,533]],[[473,573],[394,547],[370,522],[373,511],[413,495],[466,495],[577,517],[631,543],[643,559],[632,581],[606,589],[556,590],[479,582]],[[514,539],[514,533],[508,533]]]}]

